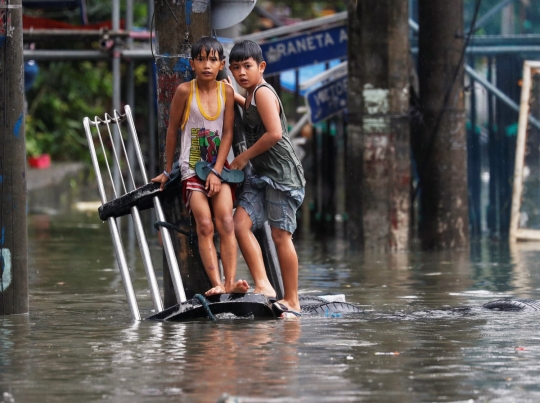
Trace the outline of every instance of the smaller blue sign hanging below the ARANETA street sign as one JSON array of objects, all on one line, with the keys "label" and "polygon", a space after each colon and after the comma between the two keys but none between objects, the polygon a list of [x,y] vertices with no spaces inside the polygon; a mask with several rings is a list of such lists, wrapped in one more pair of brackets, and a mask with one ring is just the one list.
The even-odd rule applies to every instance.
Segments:
[{"label": "smaller blue sign hanging below the ARANETA street sign", "polygon": [[347,76],[330,81],[306,94],[311,123],[326,120],[347,108]]}]

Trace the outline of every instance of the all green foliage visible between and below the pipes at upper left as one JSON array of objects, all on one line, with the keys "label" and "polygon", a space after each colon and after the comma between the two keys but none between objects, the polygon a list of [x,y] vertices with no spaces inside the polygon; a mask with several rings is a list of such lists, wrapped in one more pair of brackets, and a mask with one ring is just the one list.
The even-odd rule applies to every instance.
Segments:
[{"label": "all green foliage visible between and below the pipes at upper left", "polygon": [[[90,24],[111,19],[112,2],[86,0]],[[120,18],[126,16],[125,2],[120,3]],[[146,26],[148,2],[133,2],[134,26]],[[80,24],[80,10],[34,10],[25,14]],[[46,43],[48,49],[87,49],[77,41]],[[95,48],[97,44],[91,44]],[[125,67],[125,66],[123,66]],[[112,72],[108,62],[52,61],[39,62],[40,72],[26,94],[26,150],[29,156],[51,154],[53,160],[89,160],[88,144],[82,119],[103,116],[112,111]],[[135,68],[135,85],[147,81],[146,65]]]}]

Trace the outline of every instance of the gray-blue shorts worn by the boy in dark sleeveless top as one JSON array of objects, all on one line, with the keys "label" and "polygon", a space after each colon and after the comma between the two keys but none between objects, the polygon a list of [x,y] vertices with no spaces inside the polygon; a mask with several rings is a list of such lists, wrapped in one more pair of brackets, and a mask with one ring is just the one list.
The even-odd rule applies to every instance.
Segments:
[{"label": "gray-blue shorts worn by the boy in dark sleeveless top", "polygon": [[292,234],[296,230],[296,211],[304,201],[304,194],[304,188],[279,190],[259,177],[250,177],[244,182],[236,205],[248,213],[252,230],[268,221],[271,227]]}]

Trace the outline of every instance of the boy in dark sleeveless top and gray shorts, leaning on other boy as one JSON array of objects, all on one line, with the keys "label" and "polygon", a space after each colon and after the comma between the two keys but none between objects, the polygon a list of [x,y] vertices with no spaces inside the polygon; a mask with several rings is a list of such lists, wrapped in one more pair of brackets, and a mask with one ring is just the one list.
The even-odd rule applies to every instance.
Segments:
[{"label": "boy in dark sleeveless top and gray shorts, leaning on other boy", "polygon": [[235,94],[243,107],[247,150],[231,163],[243,169],[251,161],[254,175],[247,178],[234,213],[240,250],[255,281],[255,292],[269,297],[276,291],[268,281],[261,248],[252,229],[268,220],[282,270],[284,299],[274,304],[284,316],[299,316],[298,257],[292,242],[296,211],[304,200],[304,170],[287,133],[283,106],[274,89],[263,79],[266,62],[259,45],[242,41],[229,55],[229,69],[247,90],[246,98]]}]

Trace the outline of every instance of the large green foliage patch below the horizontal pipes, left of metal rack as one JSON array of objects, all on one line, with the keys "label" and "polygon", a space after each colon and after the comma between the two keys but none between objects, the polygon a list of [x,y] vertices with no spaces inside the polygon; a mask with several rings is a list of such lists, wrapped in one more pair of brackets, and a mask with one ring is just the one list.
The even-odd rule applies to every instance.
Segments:
[{"label": "large green foliage patch below the horizontal pipes, left of metal rack", "polygon": [[26,149],[32,156],[51,154],[55,161],[87,160],[82,126],[110,110],[112,74],[105,62],[50,62],[28,94]]}]

